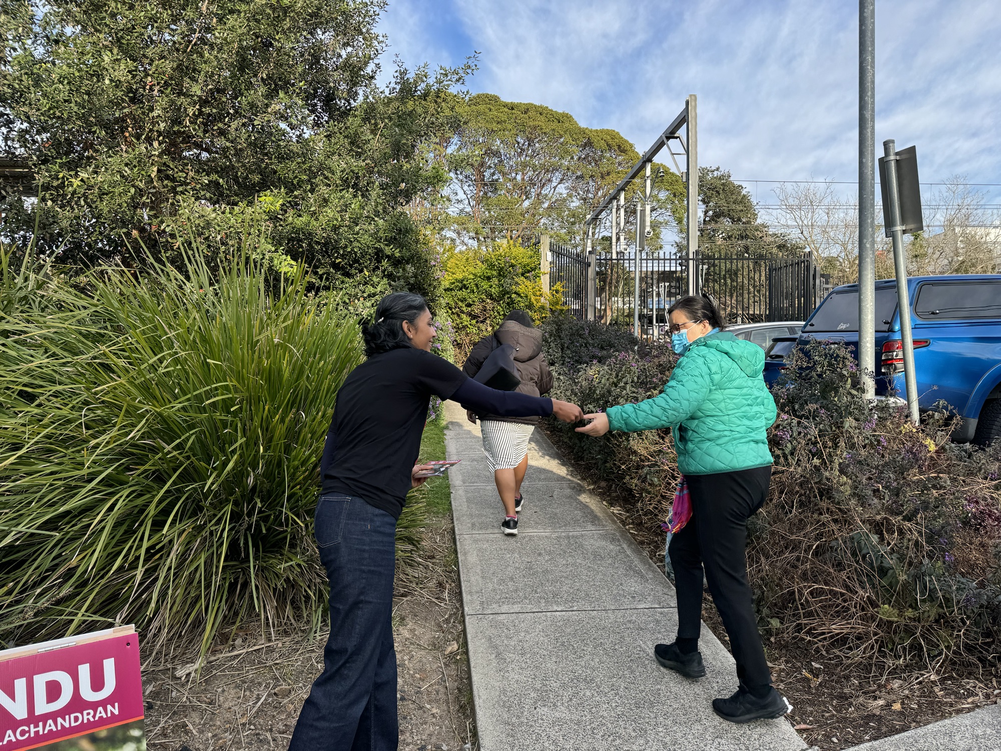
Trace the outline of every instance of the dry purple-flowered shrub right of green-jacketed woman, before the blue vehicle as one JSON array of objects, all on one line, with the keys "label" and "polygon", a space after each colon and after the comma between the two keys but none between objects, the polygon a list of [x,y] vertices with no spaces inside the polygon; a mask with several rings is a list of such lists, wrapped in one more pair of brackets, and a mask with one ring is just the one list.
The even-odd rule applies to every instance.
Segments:
[{"label": "dry purple-flowered shrub right of green-jacketed woman, before the blue vehicle", "polygon": [[870,405],[844,344],[811,341],[788,361],[749,548],[763,622],[855,657],[996,659],[1001,452],[949,443],[944,412],[915,428]]}]

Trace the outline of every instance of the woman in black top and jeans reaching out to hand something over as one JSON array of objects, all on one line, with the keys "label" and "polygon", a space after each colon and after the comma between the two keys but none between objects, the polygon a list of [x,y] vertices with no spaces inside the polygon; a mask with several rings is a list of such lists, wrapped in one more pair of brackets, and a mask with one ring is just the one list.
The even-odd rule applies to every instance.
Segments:
[{"label": "woman in black top and jeans reaching out to hand something over", "polygon": [[363,334],[368,358],[337,392],[320,463],[315,536],[330,581],[330,636],[290,751],[397,747],[395,528],[428,469],[416,461],[431,396],[505,417],[583,418],[576,405],[488,389],[431,354],[436,331],[419,294],[383,297]]}]

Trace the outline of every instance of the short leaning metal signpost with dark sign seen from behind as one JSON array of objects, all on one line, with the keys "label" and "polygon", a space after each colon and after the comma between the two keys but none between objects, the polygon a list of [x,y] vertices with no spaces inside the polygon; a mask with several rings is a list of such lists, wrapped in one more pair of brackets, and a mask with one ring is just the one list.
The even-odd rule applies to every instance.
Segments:
[{"label": "short leaning metal signpost with dark sign seen from behind", "polygon": [[[901,170],[900,159],[909,157],[909,171],[904,175],[909,177],[904,184],[907,201],[904,209],[901,206]],[[915,149],[904,149],[897,153],[897,144],[893,138],[883,141],[883,158],[880,159],[880,177],[885,173],[883,186],[883,213],[886,218],[886,231],[893,239],[893,267],[897,275],[897,310],[900,314],[900,341],[904,350],[904,384],[907,388],[907,411],[911,422],[919,425],[918,414],[918,380],[914,372],[914,339],[911,337],[911,293],[907,288],[907,259],[904,258],[904,232],[921,231],[924,227],[921,221],[921,193],[918,188],[917,157]],[[915,197],[916,196],[916,197]],[[904,214],[908,215],[905,216]]]}]

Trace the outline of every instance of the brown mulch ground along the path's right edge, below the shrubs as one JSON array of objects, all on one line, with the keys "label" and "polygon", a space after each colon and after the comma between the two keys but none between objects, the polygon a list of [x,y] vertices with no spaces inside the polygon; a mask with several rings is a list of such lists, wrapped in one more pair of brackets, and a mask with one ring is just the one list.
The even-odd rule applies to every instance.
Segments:
[{"label": "brown mulch ground along the path's right edge, below the shrubs", "polygon": [[[547,434],[560,447],[560,436]],[[641,518],[635,504],[595,477],[593,468],[570,457],[564,452],[566,461],[663,569],[665,536],[659,526]],[[729,649],[726,630],[708,591],[703,620]],[[902,733],[1001,699],[997,669],[960,668],[942,675],[906,669],[887,672],[865,662],[819,654],[795,637],[766,638],[765,648],[775,686],[793,705],[789,719],[804,741],[822,751]],[[736,676],[734,683],[736,690]]]}]

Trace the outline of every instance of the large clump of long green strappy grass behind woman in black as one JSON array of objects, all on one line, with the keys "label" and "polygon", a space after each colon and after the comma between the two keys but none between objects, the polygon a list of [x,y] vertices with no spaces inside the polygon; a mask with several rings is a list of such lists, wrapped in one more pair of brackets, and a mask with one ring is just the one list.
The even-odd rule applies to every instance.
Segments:
[{"label": "large clump of long green strappy grass behind woman in black", "polygon": [[[13,262],[0,287],[0,639],[136,623],[147,644],[318,626],[312,540],[356,321],[301,270],[75,277]],[[26,254],[30,255],[30,254]],[[401,520],[415,545],[419,503]]]}]

